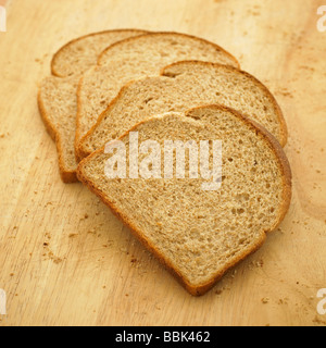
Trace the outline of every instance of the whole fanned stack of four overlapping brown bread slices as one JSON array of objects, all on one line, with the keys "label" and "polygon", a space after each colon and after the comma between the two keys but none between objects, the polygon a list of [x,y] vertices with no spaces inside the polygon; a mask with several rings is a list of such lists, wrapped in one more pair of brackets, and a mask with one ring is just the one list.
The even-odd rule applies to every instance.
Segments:
[{"label": "whole fanned stack of four overlapping brown bread slices", "polygon": [[[291,200],[284,115],[223,48],[179,33],[108,30],[62,47],[51,70],[38,103],[62,181],[100,197],[190,294],[211,289],[284,220]],[[127,148],[136,132],[162,148],[221,141],[220,189],[203,190],[205,179],[190,175],[109,177],[105,146]]]}]

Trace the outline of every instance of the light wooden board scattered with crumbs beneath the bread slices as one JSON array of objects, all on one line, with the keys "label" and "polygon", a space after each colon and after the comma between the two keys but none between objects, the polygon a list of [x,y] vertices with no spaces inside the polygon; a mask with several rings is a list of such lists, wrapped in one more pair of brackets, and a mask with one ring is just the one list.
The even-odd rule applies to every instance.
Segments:
[{"label": "light wooden board scattered with crumbs beneath the bread slices", "polygon": [[[9,0],[0,33],[1,325],[326,325],[326,33],[313,0]],[[326,4],[326,3],[325,3]],[[225,47],[275,94],[293,200],[264,247],[189,296],[79,184],[61,183],[38,84],[67,40],[179,30]]]}]

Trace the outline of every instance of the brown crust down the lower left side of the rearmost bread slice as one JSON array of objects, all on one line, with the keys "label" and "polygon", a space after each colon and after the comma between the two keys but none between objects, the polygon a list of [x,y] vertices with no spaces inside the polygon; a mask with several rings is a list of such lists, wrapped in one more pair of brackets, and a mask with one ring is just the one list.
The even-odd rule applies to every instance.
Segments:
[{"label": "brown crust down the lower left side of the rearmost bread slice", "polygon": [[77,183],[78,178],[77,178],[76,171],[67,170],[64,166],[64,162],[62,159],[62,153],[63,153],[62,139],[61,139],[60,133],[57,130],[55,126],[51,123],[46,112],[46,108],[41,98],[41,86],[39,87],[39,90],[38,90],[37,103],[38,103],[39,113],[40,113],[41,120],[43,121],[46,129],[51,136],[51,138],[53,139],[53,141],[55,141],[57,151],[58,151],[59,171],[60,171],[60,176],[62,182],[65,184]]}]

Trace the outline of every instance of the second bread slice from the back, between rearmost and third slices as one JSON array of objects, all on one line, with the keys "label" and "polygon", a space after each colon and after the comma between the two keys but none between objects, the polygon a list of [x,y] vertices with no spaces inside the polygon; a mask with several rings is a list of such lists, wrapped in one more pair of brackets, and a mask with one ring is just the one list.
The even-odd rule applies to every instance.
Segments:
[{"label": "second bread slice from the back, between rearmost and third slices", "polygon": [[86,72],[79,84],[76,148],[126,83],[159,75],[162,67],[186,59],[239,66],[215,44],[178,33],[141,35],[106,49],[99,58],[99,66]]}]

